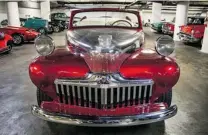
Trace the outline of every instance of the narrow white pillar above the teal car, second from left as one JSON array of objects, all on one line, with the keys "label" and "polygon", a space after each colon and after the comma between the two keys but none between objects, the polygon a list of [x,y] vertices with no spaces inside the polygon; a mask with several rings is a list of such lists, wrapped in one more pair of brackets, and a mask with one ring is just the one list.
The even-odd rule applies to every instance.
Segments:
[{"label": "narrow white pillar above the teal car, second from left", "polygon": [[40,14],[41,14],[41,18],[50,21],[50,14],[51,14],[50,0],[44,0],[40,2]]}]

